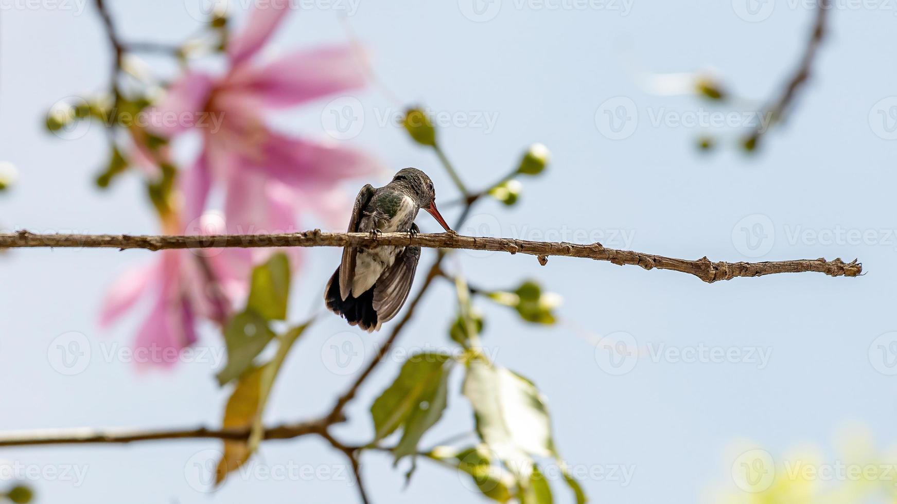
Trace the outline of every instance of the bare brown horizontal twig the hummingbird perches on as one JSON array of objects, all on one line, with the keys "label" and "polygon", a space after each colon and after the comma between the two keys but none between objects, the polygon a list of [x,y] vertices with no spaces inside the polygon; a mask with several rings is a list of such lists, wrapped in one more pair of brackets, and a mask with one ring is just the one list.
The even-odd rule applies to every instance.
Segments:
[{"label": "bare brown horizontal twig the hummingbird perches on", "polygon": [[[466,207],[469,208],[469,205]],[[466,215],[465,213],[462,213]],[[526,239],[483,238],[453,233],[419,234],[329,233],[321,230],[272,235],[207,235],[207,236],[131,236],[131,235],[65,235],[32,234],[21,230],[0,234],[0,248],[257,248],[257,247],[363,247],[416,246],[423,248],[464,248],[491,250],[510,254],[537,256],[544,264],[549,256],[568,256],[607,261],[614,265],[639,265],[644,269],[664,269],[693,274],[704,282],[730,280],[736,276],[815,272],[831,276],[858,276],[862,264],[857,260],[844,263],[838,259],[799,259],[763,263],[712,262],[700,259],[677,259],[631,250],[605,248],[600,243],[581,245],[566,242],[531,241]]]}]

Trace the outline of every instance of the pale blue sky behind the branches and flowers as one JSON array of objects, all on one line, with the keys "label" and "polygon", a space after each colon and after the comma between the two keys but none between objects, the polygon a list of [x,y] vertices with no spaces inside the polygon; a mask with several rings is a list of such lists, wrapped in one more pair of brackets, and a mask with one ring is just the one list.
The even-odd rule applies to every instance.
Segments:
[{"label": "pale blue sky behind the branches and flowers", "polygon": [[[93,186],[106,156],[100,127],[70,140],[42,127],[54,102],[100,92],[109,79],[110,52],[92,4],[60,2],[0,0],[0,161],[19,170],[13,190],[0,195],[0,228],[154,233],[152,209],[135,174],[106,192]],[[687,274],[575,258],[552,257],[544,267],[532,256],[498,253],[462,251],[449,259],[477,285],[512,287],[534,278],[562,294],[562,323],[552,327],[524,325],[508,308],[478,302],[487,325],[483,344],[495,361],[531,378],[547,396],[556,444],[570,465],[604,471],[604,477],[583,481],[590,497],[717,501],[715,491],[739,491],[731,474],[738,446],[765,448],[782,461],[793,447],[811,444],[829,464],[842,459],[841,432],[866,432],[875,447],[892,446],[894,6],[839,4],[795,113],[768,135],[762,152],[748,157],[736,149],[740,130],[658,123],[656,117],[675,120],[717,108],[693,96],[652,93],[642,75],[713,68],[728,90],[763,100],[779,90],[805,47],[814,13],[803,4],[767,0],[752,16],[741,0],[632,0],[628,7],[620,2],[603,8],[550,3],[566,5],[559,9],[494,2],[485,11],[472,10],[467,0],[306,2],[272,46],[277,51],[344,42],[344,17],[370,49],[382,83],[402,101],[376,88],[346,95],[359,100],[363,116],[359,134],[346,142],[376,152],[390,168],[423,169],[440,202],[457,195],[436,158],[381,120],[403,104],[464,118],[440,128],[440,136],[471,187],[500,178],[530,143],[546,144],[551,167],[540,178],[523,180],[519,204],[507,209],[483,203],[472,225],[459,230],[465,234],[584,236],[578,240],[729,261],[858,257],[867,272],[856,279],[777,274],[707,284]],[[200,26],[196,17],[202,19],[194,0],[109,4],[126,39],[178,42]],[[233,4],[239,23],[248,2]],[[770,5],[771,12],[763,10]],[[322,117],[332,117],[330,100],[280,114],[277,122],[295,134],[327,137]],[[620,104],[630,107],[623,114],[629,117],[625,138],[608,129],[605,116],[605,109],[615,115]],[[742,115],[752,110],[737,103],[721,110],[731,109]],[[492,126],[485,117],[494,119]],[[706,133],[721,137],[715,152],[695,148],[695,139]],[[386,181],[351,181],[346,195],[364,183]],[[456,212],[443,210],[449,222]],[[313,217],[302,222],[320,225]],[[418,223],[424,231],[439,230],[428,215]],[[845,234],[827,239],[837,230]],[[848,230],[867,239],[848,239]],[[338,256],[333,248],[306,252],[293,283],[292,320],[321,311],[320,295]],[[434,256],[425,250],[422,267]],[[141,373],[115,352],[132,341],[144,311],[110,330],[97,325],[109,282],[152,259],[145,251],[90,249],[0,256],[0,429],[219,424],[229,391],[216,386],[213,359]],[[398,347],[450,348],[454,299],[447,282],[437,284]],[[73,332],[89,342],[91,359],[67,376],[53,352],[57,338]],[[625,362],[628,372],[608,365],[607,348],[596,347],[606,335],[634,340],[641,349],[639,359]],[[267,421],[326,412],[383,337],[321,317],[293,349]],[[341,367],[332,352],[345,342],[353,355],[344,356],[350,363]],[[220,348],[213,327],[205,327],[199,346]],[[652,359],[650,351],[701,346],[745,358],[683,362]],[[748,352],[765,352],[769,359],[752,361]],[[391,356],[366,382],[348,408],[352,421],[335,430],[342,438],[370,439],[370,403],[400,364]],[[423,446],[472,429],[460,374],[454,378],[448,410]],[[255,460],[268,467],[311,465],[329,476],[232,477],[207,493],[195,464],[203,465],[206,450],[218,448],[214,440],[21,448],[0,451],[0,460],[86,470],[83,481],[32,481],[40,502],[357,499],[342,454],[315,437],[266,442]],[[480,499],[463,478],[427,461],[404,490],[404,465],[392,468],[385,454],[365,454],[362,465],[377,502]],[[607,472],[614,467],[611,477]],[[630,480],[623,481],[623,468],[634,471]],[[558,500],[570,501],[562,483],[553,484]]]}]

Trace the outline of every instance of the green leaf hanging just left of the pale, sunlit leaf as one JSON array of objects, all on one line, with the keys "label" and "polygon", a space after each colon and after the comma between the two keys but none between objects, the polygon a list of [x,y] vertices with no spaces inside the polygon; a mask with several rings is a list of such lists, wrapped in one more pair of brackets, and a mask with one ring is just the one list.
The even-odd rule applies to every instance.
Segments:
[{"label": "green leaf hanging just left of the pale, sunlit leaf", "polygon": [[371,404],[376,432],[373,442],[403,428],[402,439],[394,451],[396,461],[416,453],[423,433],[442,416],[452,362],[452,357],[444,353],[414,354],[405,361],[392,385]]}]

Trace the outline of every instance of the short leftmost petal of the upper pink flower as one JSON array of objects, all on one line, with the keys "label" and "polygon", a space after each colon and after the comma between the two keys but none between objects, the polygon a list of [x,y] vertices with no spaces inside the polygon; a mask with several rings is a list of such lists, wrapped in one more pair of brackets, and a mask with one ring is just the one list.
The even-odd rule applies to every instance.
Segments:
[{"label": "short leftmost petal of the upper pink flower", "polygon": [[187,72],[149,110],[149,130],[157,135],[174,136],[194,126],[201,118],[213,89],[214,79],[207,74]]}]

